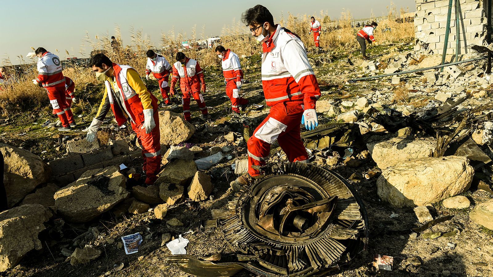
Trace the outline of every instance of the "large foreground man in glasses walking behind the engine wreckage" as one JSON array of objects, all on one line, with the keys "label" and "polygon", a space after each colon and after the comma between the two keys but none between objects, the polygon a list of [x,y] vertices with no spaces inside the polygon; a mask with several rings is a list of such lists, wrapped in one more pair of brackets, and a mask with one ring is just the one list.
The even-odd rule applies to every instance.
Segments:
[{"label": "large foreground man in glasses walking behind the engine wreckage", "polygon": [[[269,115],[248,139],[248,174],[256,177],[269,157],[276,140],[290,162],[308,162],[308,154],[300,136],[300,122],[307,130],[318,126],[315,103],[320,97],[317,78],[308,61],[301,39],[274,24],[269,10],[256,5],[246,10],[242,21],[252,35],[262,42],[262,86]],[[237,178],[246,185],[247,175]]]}]

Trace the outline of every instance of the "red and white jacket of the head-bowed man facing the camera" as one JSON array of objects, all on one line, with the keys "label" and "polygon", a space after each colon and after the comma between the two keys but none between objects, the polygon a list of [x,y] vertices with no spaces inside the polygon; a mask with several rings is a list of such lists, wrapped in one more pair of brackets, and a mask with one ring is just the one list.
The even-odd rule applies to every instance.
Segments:
[{"label": "red and white jacket of the head-bowed man facing the camera", "polygon": [[182,66],[180,62],[173,64],[171,88],[175,88],[178,79],[180,80],[181,92],[198,92],[200,91],[201,84],[202,92],[206,91],[204,72],[200,68],[199,63],[194,59],[185,58],[185,66]]}]

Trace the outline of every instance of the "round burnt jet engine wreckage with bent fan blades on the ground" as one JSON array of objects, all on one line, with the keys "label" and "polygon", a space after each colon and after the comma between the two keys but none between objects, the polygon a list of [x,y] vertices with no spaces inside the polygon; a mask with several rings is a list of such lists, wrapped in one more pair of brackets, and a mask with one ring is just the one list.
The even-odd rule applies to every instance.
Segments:
[{"label": "round burnt jet engine wreckage with bent fan blades on the ground", "polygon": [[235,216],[219,222],[238,262],[189,255],[168,256],[168,262],[203,277],[232,276],[237,266],[264,277],[308,277],[336,270],[366,249],[366,211],[344,178],[302,163],[271,171],[243,192]]}]

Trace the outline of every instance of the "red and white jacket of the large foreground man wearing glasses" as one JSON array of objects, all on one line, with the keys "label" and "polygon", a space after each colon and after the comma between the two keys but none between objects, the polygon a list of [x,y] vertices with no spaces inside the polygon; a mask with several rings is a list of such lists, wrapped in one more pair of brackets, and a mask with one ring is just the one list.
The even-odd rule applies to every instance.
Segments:
[{"label": "red and white jacket of the large foreground man wearing glasses", "polygon": [[278,24],[274,34],[262,43],[262,48],[266,104],[296,101],[304,104],[305,109],[315,108],[320,88],[301,39]]}]

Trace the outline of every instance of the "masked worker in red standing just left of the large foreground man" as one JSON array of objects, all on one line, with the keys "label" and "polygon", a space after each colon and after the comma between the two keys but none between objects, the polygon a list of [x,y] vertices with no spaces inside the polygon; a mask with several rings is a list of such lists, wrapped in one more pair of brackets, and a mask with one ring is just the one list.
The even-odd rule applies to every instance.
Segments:
[{"label": "masked worker in red standing just left of the large foreground man", "polygon": [[243,82],[243,70],[240,65],[240,58],[230,49],[226,50],[222,45],[218,45],[215,51],[222,61],[226,95],[231,100],[231,109],[236,113],[240,112],[240,107],[245,110],[248,100],[240,96],[240,89],[242,88]]}]

